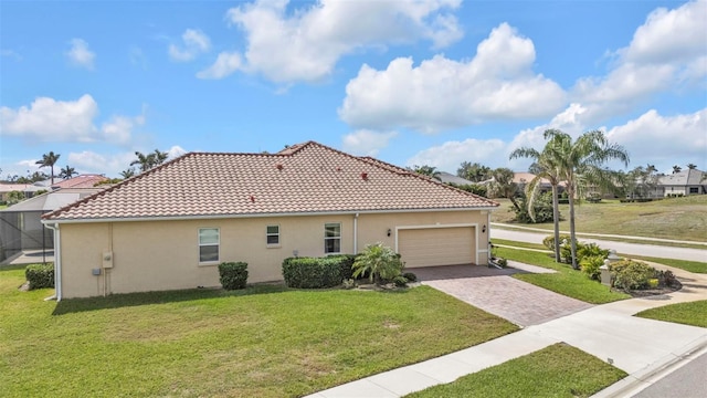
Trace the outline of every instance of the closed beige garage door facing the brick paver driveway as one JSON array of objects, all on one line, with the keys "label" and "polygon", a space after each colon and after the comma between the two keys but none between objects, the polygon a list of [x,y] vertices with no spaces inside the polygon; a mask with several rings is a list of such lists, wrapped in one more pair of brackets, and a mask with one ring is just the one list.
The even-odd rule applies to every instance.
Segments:
[{"label": "closed beige garage door facing the brick paver driveway", "polygon": [[398,230],[398,252],[405,268],[474,263],[474,227]]}]

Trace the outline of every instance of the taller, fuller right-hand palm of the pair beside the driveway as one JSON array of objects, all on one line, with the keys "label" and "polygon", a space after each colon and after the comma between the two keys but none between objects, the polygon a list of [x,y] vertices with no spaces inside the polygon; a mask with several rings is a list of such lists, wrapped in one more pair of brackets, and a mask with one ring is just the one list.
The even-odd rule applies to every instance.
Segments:
[{"label": "taller, fuller right-hand palm of the pair beside the driveway", "polygon": [[[611,186],[616,180],[616,172],[601,168],[604,163],[616,159],[629,165],[629,154],[618,145],[609,143],[600,130],[587,132],[572,142],[572,137],[561,130],[546,130],[548,156],[556,161],[559,177],[567,184],[570,202],[570,242],[572,268],[577,264],[577,234],[574,231],[574,197],[582,182]],[[544,151],[545,151],[544,150]]]}]

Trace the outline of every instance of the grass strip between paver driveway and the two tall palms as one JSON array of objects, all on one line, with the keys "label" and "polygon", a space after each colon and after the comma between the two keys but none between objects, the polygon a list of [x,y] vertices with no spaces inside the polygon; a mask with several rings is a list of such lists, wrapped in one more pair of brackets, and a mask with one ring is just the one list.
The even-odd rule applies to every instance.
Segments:
[{"label": "grass strip between paver driveway and the two tall palms", "polygon": [[496,248],[496,255],[556,270],[551,274],[515,274],[513,277],[532,283],[534,285],[581,300],[592,304],[604,304],[629,298],[625,293],[611,292],[608,286],[587,277],[582,272],[572,270],[568,264],[559,264],[549,253],[540,253],[520,249]]}]

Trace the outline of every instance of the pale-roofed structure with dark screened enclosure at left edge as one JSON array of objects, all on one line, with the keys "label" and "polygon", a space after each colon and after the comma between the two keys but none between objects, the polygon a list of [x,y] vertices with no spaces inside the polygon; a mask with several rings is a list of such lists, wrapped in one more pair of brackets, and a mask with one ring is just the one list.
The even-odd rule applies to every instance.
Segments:
[{"label": "pale-roofed structure with dark screened enclosure at left edge", "polygon": [[27,250],[53,248],[52,230],[44,228],[41,217],[101,188],[66,188],[45,192],[0,210],[0,261]]}]

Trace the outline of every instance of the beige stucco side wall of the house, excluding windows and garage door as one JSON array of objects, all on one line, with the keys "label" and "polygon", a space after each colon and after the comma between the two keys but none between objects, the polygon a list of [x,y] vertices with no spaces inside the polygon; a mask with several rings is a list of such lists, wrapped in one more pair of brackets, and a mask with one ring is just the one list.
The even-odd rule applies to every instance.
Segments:
[{"label": "beige stucco side wall of the house, excluding windows and garage door", "polygon": [[[401,227],[477,224],[479,264],[487,263],[488,230],[481,226],[487,214],[467,212],[411,212],[387,214],[239,218],[188,221],[131,221],[113,223],[64,223],[61,229],[62,297],[96,296],[197,286],[218,286],[218,266],[199,263],[198,231],[220,229],[221,261],[249,263],[249,283],[282,280],[282,261],[293,256],[324,255],[324,224],[341,223],[341,252],[354,253],[367,243],[394,248]],[[358,239],[355,242],[355,222]],[[281,243],[266,244],[266,226],[279,226]],[[391,235],[388,237],[388,229]],[[103,266],[103,254],[113,252],[113,268]]]}]

